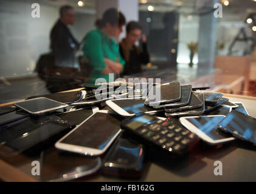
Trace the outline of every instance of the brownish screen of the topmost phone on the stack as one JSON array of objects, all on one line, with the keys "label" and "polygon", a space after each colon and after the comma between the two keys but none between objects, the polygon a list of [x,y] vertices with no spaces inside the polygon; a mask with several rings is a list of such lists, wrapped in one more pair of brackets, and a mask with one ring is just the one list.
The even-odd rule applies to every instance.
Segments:
[{"label": "brownish screen of the topmost phone on the stack", "polygon": [[154,85],[148,94],[148,103],[157,103],[155,99],[150,99],[150,96],[157,95],[158,89],[161,92],[161,98],[159,102],[171,102],[181,99],[181,84],[180,82],[173,82],[170,84]]}]

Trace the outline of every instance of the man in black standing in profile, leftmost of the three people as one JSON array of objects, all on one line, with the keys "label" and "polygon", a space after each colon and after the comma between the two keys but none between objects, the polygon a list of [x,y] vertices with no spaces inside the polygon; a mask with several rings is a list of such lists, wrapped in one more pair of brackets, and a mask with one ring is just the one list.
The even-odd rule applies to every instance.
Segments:
[{"label": "man in black standing in profile, leftmost of the three people", "polygon": [[68,25],[75,22],[75,12],[70,5],[60,7],[60,19],[50,32],[50,49],[55,56],[57,67],[79,68],[75,52],[79,48],[77,40],[69,31]]}]

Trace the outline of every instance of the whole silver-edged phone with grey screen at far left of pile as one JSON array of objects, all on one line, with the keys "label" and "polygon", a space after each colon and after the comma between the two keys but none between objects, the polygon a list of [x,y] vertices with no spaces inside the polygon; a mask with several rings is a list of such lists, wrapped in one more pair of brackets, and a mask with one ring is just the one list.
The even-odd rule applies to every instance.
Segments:
[{"label": "whole silver-edged phone with grey screen at far left of pile", "polygon": [[25,110],[32,115],[41,115],[43,113],[63,109],[68,106],[62,102],[44,97],[27,99],[26,101],[15,102],[13,104],[19,109]]}]

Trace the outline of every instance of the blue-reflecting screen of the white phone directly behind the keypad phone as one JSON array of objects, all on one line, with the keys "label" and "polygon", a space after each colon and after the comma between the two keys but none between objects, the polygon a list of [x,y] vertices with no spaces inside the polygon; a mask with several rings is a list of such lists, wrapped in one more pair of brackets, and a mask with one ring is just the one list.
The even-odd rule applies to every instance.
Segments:
[{"label": "blue-reflecting screen of the white phone directly behind the keypad phone", "polygon": [[121,99],[113,102],[130,114],[154,110],[150,107],[146,107],[144,101],[144,99]]}]

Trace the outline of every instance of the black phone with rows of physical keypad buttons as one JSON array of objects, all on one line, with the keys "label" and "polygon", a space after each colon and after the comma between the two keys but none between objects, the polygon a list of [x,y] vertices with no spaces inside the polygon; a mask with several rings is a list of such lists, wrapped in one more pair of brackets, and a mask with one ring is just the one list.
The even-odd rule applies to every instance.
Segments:
[{"label": "black phone with rows of physical keypad buttons", "polygon": [[135,135],[148,146],[161,148],[169,153],[185,155],[198,139],[174,119],[163,121],[153,115],[137,115],[124,119],[121,129]]}]

